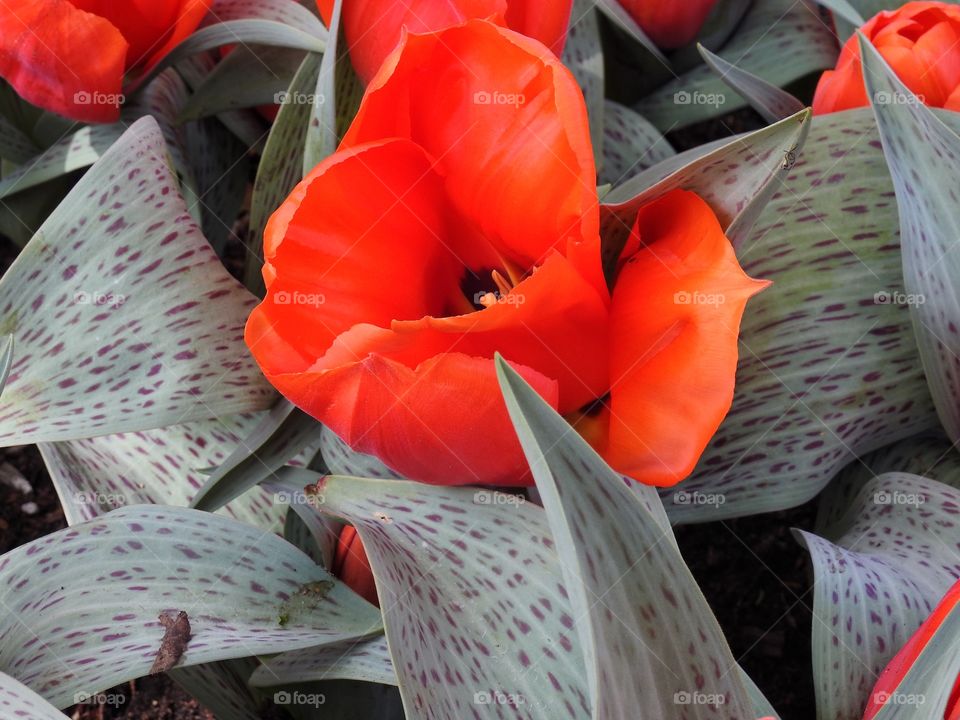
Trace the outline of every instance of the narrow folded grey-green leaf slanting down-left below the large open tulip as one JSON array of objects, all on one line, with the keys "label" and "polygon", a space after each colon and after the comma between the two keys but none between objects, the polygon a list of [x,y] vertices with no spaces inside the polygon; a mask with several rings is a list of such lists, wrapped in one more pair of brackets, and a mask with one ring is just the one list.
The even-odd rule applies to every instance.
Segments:
[{"label": "narrow folded grey-green leaf slanting down-left below the large open tulip", "polygon": [[306,456],[309,461],[318,450],[321,429],[312,417],[280,400],[221,460],[192,507],[213,512],[266,481],[294,458]]}]

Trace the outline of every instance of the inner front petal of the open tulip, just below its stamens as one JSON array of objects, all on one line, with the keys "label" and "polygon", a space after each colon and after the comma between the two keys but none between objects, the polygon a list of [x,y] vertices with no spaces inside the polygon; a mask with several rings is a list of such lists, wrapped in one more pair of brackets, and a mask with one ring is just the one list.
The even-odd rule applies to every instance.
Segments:
[{"label": "inner front petal of the open tulip, just below its stamens", "polygon": [[609,387],[608,309],[574,265],[554,254],[510,293],[478,312],[358,325],[334,342],[316,368],[377,354],[416,367],[447,352],[534,367],[559,382],[561,412],[603,397]]}]

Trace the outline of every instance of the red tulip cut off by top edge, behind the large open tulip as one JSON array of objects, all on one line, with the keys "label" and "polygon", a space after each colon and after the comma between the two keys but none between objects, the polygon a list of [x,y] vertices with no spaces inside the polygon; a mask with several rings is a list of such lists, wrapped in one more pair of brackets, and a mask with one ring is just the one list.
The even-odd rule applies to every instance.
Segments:
[{"label": "red tulip cut off by top edge, behind the large open tulip", "polygon": [[[318,0],[329,25],[333,0]],[[350,58],[370,82],[400,41],[403,28],[423,33],[486,19],[563,50],[573,0],[344,0],[343,27]]]}]

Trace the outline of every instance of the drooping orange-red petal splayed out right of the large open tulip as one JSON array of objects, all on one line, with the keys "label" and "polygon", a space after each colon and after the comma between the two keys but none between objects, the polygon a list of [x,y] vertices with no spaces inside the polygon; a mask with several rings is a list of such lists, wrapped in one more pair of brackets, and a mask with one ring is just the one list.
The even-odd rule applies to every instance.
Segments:
[{"label": "drooping orange-red petal splayed out right of the large open tulip", "polygon": [[640,210],[611,304],[610,428],[603,454],[650,485],[693,469],[733,399],[747,277],[709,206],[674,190]]}]

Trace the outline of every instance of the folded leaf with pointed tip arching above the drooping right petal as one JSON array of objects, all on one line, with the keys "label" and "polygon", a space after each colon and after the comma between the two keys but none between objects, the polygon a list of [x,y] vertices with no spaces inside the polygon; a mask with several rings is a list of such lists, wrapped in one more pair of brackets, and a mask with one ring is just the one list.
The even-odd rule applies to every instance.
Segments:
[{"label": "folded leaf with pointed tip arching above the drooping right petal", "polygon": [[604,198],[604,243],[619,247],[637,211],[675,188],[706,200],[736,245],[750,232],[774,191],[796,162],[810,129],[804,111],[757,132],[736,138],[692,162],[677,167],[668,158],[633,177]]}]

